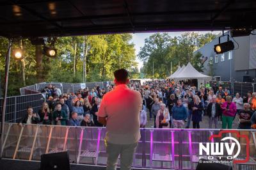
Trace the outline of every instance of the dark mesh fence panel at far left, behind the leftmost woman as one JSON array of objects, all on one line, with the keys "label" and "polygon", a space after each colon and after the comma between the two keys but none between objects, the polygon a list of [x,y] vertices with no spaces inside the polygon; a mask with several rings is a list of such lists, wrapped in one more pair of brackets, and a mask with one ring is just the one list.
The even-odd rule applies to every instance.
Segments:
[{"label": "dark mesh fence panel at far left, behind the leftmost woman", "polygon": [[[34,112],[42,107],[45,93],[8,97],[6,101],[5,122],[17,123],[26,115],[26,108],[30,105]],[[3,98],[0,98],[0,109],[2,109]]]}]

